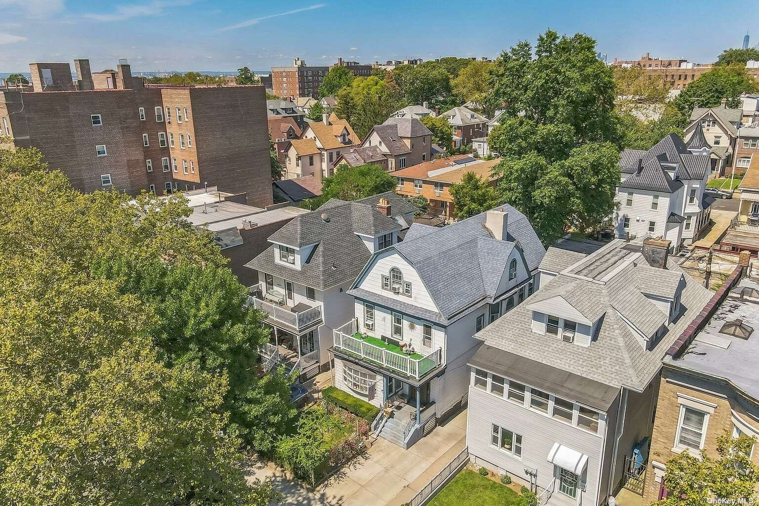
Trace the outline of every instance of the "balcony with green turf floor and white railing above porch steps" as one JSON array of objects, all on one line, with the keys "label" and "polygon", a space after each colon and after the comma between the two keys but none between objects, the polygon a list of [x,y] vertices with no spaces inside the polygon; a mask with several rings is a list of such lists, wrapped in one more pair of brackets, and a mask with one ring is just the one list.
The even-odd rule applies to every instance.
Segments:
[{"label": "balcony with green turf floor and white railing above porch steps", "polygon": [[386,344],[379,338],[359,334],[357,326],[356,320],[351,320],[335,329],[335,349],[347,351],[367,363],[401,372],[417,380],[441,365],[442,356],[439,349],[426,357],[420,354],[406,354],[395,344]]}]

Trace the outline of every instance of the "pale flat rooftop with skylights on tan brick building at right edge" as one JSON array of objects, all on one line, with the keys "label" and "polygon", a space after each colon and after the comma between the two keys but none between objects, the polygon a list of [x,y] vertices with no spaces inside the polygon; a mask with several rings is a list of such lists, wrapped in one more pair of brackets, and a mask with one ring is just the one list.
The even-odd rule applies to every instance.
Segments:
[{"label": "pale flat rooftop with skylights on tan brick building at right edge", "polygon": [[759,283],[740,281],[685,353],[664,363],[724,379],[759,399]]}]

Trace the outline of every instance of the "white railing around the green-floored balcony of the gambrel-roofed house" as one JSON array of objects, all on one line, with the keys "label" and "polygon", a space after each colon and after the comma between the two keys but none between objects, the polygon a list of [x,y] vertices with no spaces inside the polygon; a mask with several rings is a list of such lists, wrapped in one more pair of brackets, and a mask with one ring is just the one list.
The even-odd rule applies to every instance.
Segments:
[{"label": "white railing around the green-floored balcony of the gambrel-roofed house", "polygon": [[414,359],[354,338],[353,335],[357,332],[357,327],[357,322],[353,319],[342,325],[342,327],[335,329],[335,332],[333,332],[335,347],[350,351],[359,357],[403,372],[405,375],[416,379],[420,379],[427,372],[440,365],[441,353],[439,348],[427,355],[427,357]]}]

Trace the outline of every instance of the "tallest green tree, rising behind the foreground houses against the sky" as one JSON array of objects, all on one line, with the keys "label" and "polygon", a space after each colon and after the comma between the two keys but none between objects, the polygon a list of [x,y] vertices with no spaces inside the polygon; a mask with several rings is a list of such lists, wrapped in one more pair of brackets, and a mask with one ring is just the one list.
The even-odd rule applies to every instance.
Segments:
[{"label": "tallest green tree, rising behind the foreground houses against the sky", "polygon": [[612,71],[595,41],[552,30],[503,52],[487,102],[503,108],[488,142],[502,157],[499,190],[550,244],[568,228],[594,228],[614,209],[619,126]]}]

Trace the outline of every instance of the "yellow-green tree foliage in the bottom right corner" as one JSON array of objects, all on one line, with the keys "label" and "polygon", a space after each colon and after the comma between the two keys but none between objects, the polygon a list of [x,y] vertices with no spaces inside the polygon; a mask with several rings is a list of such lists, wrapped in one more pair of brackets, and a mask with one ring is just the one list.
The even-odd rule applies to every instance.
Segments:
[{"label": "yellow-green tree foliage in the bottom right corner", "polygon": [[717,458],[701,450],[701,458],[683,451],[667,460],[664,486],[669,495],[658,506],[702,506],[724,500],[723,504],[751,504],[757,498],[759,470],[748,455],[756,440],[724,434],[717,438]]}]

